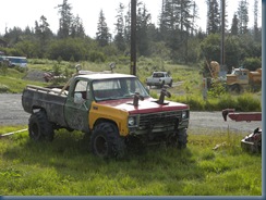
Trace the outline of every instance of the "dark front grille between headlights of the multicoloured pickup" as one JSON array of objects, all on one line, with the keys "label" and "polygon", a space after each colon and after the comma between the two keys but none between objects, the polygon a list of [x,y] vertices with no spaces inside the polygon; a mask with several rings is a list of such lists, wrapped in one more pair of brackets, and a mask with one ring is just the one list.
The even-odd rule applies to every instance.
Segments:
[{"label": "dark front grille between headlights of the multicoloured pickup", "polygon": [[164,126],[177,125],[178,118],[181,118],[181,114],[180,111],[142,114],[140,116],[140,127],[150,127],[159,124]]}]

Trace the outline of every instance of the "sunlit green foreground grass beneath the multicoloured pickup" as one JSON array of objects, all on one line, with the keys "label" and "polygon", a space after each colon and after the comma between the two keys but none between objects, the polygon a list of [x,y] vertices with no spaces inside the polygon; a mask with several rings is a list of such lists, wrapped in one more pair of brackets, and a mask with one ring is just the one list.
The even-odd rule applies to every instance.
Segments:
[{"label": "sunlit green foreground grass beneath the multicoloured pickup", "polygon": [[[25,127],[1,127],[0,134]],[[4,196],[262,196],[262,157],[242,151],[243,135],[189,132],[185,150],[149,147],[101,160],[78,132],[33,142],[27,132],[0,140]],[[217,150],[213,148],[223,143]]]}]

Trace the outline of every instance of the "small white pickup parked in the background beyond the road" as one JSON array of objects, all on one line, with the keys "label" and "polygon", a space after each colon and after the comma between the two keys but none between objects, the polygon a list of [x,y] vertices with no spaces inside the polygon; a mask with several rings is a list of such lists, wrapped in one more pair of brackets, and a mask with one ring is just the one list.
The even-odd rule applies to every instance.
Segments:
[{"label": "small white pickup parked in the background beyond the road", "polygon": [[154,72],[150,77],[146,78],[147,86],[172,87],[172,77],[167,72]]}]

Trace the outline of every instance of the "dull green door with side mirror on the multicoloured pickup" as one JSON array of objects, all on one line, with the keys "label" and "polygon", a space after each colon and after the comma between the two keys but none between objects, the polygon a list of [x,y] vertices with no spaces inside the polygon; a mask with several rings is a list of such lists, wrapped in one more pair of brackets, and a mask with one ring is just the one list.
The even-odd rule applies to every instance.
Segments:
[{"label": "dull green door with side mirror on the multicoloured pickup", "polygon": [[70,88],[64,107],[64,117],[72,129],[88,132],[88,111],[90,107],[90,89],[86,79],[76,79]]}]

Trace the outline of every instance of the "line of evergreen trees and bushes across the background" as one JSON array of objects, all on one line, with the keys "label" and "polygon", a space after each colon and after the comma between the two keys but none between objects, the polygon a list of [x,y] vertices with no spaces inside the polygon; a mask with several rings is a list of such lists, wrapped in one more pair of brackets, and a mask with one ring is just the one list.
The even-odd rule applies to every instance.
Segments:
[{"label": "line of evergreen trees and bushes across the background", "polygon": [[[195,24],[198,18],[197,2],[194,0],[161,0],[159,23],[150,22],[152,15],[144,1],[137,0],[136,49],[137,57],[158,57],[173,63],[197,63],[218,61],[220,55],[221,4],[219,0],[206,0],[207,28],[202,30]],[[225,0],[227,5],[227,0]],[[247,27],[249,3],[254,7],[254,26]],[[72,13],[68,0],[58,4],[59,29],[49,28],[46,16],[35,22],[35,27],[5,29],[0,39],[7,47],[0,47],[10,55],[25,55],[39,59],[63,59],[65,61],[105,62],[113,58],[130,55],[131,9],[119,3],[116,15],[116,34],[112,36],[106,23],[105,13],[99,12],[95,38],[86,36],[82,18]],[[227,10],[227,7],[226,7]],[[240,0],[231,18],[226,18],[226,65],[259,64],[262,55],[262,27],[257,26],[258,0]],[[250,66],[249,66],[250,67]],[[257,66],[261,67],[261,66]]]}]

